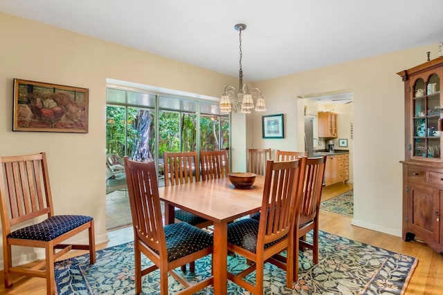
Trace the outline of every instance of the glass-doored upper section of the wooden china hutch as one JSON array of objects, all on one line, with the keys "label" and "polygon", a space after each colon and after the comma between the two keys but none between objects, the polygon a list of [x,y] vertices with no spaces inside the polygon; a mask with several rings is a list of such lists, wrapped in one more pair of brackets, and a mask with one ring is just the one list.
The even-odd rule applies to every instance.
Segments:
[{"label": "glass-doored upper section of the wooden china hutch", "polygon": [[443,106],[440,95],[443,57],[404,70],[398,75],[405,82],[405,160],[443,162],[440,153],[442,126],[439,128]]}]

